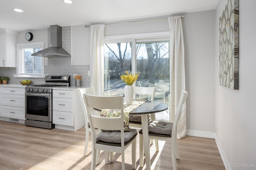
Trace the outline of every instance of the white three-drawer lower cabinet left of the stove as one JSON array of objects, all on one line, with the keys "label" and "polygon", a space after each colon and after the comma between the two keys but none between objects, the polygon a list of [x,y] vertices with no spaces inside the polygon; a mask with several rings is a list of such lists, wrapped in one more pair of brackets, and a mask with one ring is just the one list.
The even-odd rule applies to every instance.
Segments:
[{"label": "white three-drawer lower cabinet left of the stove", "polygon": [[25,88],[0,88],[0,117],[5,121],[24,123]]}]

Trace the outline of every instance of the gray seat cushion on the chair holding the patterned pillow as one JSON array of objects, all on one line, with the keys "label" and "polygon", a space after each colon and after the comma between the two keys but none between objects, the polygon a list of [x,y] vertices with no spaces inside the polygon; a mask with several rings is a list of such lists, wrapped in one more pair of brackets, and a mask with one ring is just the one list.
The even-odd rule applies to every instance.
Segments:
[{"label": "gray seat cushion on the chair holding the patterned pillow", "polygon": [[[128,132],[124,132],[124,143],[130,141],[134,136],[137,135],[136,129],[130,129]],[[121,132],[119,131],[102,131],[97,135],[98,141],[106,143],[121,143]],[[97,143],[98,143],[97,141]]]}]

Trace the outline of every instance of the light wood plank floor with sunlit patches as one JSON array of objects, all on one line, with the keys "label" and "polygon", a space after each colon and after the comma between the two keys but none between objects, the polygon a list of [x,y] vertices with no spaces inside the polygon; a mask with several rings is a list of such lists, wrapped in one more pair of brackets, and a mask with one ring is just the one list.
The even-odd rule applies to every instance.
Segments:
[{"label": "light wood plank floor with sunlit patches", "polygon": [[[84,134],[60,129],[26,127],[20,123],[0,121],[0,169],[1,170],[90,170],[91,145],[83,157]],[[137,166],[139,167],[139,137],[137,137]],[[90,144],[90,141],[89,141]],[[159,141],[160,151],[150,147],[151,169],[172,169],[170,143]],[[131,147],[131,146],[130,146]],[[131,170],[131,148],[125,152],[125,166]],[[163,149],[164,148],[164,149]],[[180,160],[178,170],[224,170],[214,139],[187,136],[178,140]],[[120,154],[114,162],[105,164],[104,153],[100,154],[98,170],[120,170]]]}]

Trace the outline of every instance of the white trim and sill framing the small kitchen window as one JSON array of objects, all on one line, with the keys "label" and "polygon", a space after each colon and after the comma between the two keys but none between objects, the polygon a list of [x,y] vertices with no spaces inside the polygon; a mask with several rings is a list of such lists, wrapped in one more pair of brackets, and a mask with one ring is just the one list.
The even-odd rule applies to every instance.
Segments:
[{"label": "white trim and sill framing the small kitchen window", "polygon": [[22,78],[44,78],[44,59],[42,59],[42,74],[20,74],[19,73],[19,49],[22,48],[28,48],[32,46],[41,45],[42,49],[44,49],[44,42],[36,42],[36,43],[19,43],[16,44],[16,74],[13,74],[14,77],[22,77]]}]

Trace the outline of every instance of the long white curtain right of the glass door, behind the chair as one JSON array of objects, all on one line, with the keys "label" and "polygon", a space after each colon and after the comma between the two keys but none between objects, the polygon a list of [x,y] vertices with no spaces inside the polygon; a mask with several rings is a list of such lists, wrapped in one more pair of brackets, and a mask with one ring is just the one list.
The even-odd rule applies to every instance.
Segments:
[{"label": "long white curtain right of the glass door, behind the chair", "polygon": [[[170,121],[174,116],[182,90],[185,87],[184,40],[181,16],[169,17],[170,29]],[[186,136],[186,106],[182,107],[177,138]]]}]

